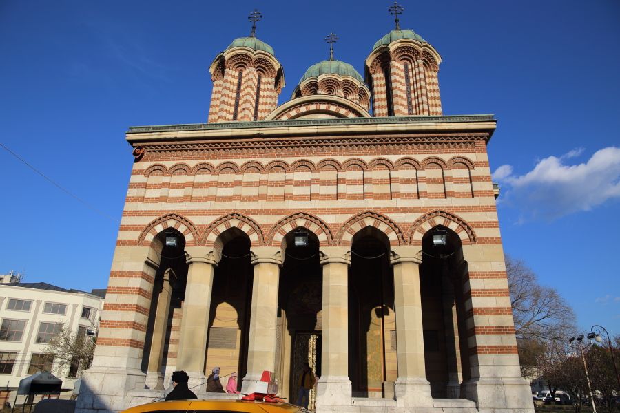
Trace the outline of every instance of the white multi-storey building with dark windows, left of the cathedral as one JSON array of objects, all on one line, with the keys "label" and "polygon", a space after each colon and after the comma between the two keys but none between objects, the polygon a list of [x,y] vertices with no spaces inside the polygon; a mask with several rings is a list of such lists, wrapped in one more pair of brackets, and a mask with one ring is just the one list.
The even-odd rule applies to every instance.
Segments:
[{"label": "white multi-storey building with dark windows, left of the cathedral", "polygon": [[45,282],[0,284],[0,402],[13,402],[19,381],[39,370],[53,371],[72,390],[75,372],[69,366],[57,372],[54,361],[43,352],[50,338],[63,325],[73,334],[96,329],[103,309],[105,290],[85,293]]}]

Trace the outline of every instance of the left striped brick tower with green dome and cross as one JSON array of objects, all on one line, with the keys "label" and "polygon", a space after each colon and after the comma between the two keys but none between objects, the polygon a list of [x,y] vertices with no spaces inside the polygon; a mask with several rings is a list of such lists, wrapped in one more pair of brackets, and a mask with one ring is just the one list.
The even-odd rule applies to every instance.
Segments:
[{"label": "left striped brick tower with green dome and cross", "polygon": [[209,67],[213,92],[209,123],[263,120],[278,106],[285,85],[282,65],[273,47],[256,38],[256,22],[262,14],[254,10],[248,37],[235,39]]}]

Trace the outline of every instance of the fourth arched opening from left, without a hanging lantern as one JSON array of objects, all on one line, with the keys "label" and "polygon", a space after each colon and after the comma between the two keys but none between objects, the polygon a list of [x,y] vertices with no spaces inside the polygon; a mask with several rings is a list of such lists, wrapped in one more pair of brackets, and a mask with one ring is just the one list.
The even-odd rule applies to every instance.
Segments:
[{"label": "fourth arched opening from left, without a hanging lantern", "polygon": [[394,277],[389,240],[374,226],[355,233],[349,267],[349,379],[358,397],[394,395]]}]

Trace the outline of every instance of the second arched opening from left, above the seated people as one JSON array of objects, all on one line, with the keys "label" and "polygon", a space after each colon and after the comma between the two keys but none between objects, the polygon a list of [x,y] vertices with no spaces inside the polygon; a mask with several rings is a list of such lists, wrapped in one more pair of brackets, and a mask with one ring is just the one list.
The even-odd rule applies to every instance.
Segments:
[{"label": "second arched opening from left, above the seated people", "polygon": [[[220,261],[214,273],[209,308],[205,376],[217,366],[222,384],[226,385],[230,374],[236,372],[237,377],[245,377],[247,372],[254,267],[249,237],[238,228],[221,233],[215,248],[220,251]],[[237,386],[240,390],[241,380]]]}]

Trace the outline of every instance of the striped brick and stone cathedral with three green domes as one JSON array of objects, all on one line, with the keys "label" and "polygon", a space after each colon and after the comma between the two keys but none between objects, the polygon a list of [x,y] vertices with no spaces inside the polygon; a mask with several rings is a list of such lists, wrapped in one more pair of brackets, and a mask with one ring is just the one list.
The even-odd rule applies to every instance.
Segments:
[{"label": "striped brick and stone cathedral with three green domes", "polygon": [[331,47],[281,105],[255,11],[209,67],[207,123],[129,128],[78,412],[163,397],[175,370],[199,398],[238,397],[205,393],[216,366],[243,394],[272,372],[293,402],[307,362],[317,412],[533,413],[486,151],[496,121],[443,114],[440,54],[390,11],[363,74]]}]

